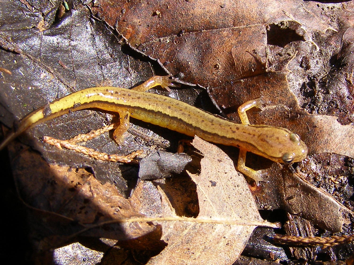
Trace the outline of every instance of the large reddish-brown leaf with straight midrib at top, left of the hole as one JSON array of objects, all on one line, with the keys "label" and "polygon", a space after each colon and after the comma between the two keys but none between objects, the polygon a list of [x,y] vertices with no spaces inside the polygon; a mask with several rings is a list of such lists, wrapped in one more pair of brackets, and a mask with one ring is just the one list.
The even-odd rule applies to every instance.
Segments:
[{"label": "large reddish-brown leaf with straight midrib at top, left of the hole", "polygon": [[265,73],[268,24],[292,23],[306,40],[307,30],[335,30],[297,0],[98,1],[91,8],[133,48],[212,87]]}]

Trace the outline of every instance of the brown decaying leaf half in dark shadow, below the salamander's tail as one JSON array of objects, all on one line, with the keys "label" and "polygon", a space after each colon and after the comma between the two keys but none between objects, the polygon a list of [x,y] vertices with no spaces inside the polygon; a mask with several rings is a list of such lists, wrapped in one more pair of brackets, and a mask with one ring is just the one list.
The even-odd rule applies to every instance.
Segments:
[{"label": "brown decaying leaf half in dark shadow, below the salamander's tail", "polygon": [[17,154],[12,161],[17,164],[14,177],[42,249],[70,242],[77,236],[134,240],[155,234],[159,240],[158,226],[121,223],[144,215],[114,185],[100,183],[82,168],[48,165],[33,152],[19,149]]}]

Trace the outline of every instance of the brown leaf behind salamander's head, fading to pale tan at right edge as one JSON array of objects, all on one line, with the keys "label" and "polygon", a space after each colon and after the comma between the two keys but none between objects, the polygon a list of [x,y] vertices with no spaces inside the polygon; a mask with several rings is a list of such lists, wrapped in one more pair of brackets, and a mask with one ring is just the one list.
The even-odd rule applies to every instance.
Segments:
[{"label": "brown leaf behind salamander's head, fading to pale tan at right edge", "polygon": [[[290,91],[287,74],[269,73],[267,76],[255,77],[258,86],[252,88],[247,85],[241,87],[241,81],[235,82],[235,86],[240,88],[242,95],[246,95],[248,98],[257,98],[259,94],[262,94],[263,98],[270,102],[261,112],[250,112],[251,124],[289,128],[306,142],[309,154],[328,152],[354,157],[353,126],[341,125],[337,121],[337,117],[309,115],[307,111],[302,110]],[[219,92],[219,90],[214,92],[217,95],[217,100]],[[247,97],[245,97],[245,101]],[[235,102],[232,97],[225,97],[222,103],[233,105]],[[234,119],[239,119],[237,114],[232,116]]]}]

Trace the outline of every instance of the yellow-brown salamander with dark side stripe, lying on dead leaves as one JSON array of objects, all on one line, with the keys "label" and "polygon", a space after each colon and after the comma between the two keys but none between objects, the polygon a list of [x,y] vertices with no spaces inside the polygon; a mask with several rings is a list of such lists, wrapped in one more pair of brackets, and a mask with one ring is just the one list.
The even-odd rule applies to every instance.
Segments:
[{"label": "yellow-brown salamander with dark side stripe, lying on dead leaves", "polygon": [[0,150],[28,128],[69,113],[98,108],[119,113],[120,126],[114,131],[117,142],[129,128],[129,117],[149,122],[217,144],[240,149],[238,171],[262,181],[261,171],[245,166],[246,152],[264,156],[280,163],[299,162],[307,155],[307,146],[296,133],[285,128],[250,125],[246,111],[261,104],[251,100],[241,105],[239,115],[243,124],[222,119],[179,100],[145,92],[155,86],[174,86],[170,76],[154,76],[129,90],[120,87],[91,87],[57,99],[25,116],[15,132],[6,137]]}]

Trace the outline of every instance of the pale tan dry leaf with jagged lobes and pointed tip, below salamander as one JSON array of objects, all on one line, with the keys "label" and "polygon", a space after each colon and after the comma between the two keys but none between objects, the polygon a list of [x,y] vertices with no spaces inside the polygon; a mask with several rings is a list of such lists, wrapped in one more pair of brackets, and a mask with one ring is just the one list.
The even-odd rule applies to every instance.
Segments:
[{"label": "pale tan dry leaf with jagged lobes and pointed tip, below salamander", "polygon": [[244,177],[221,149],[198,137],[193,145],[204,155],[200,174],[189,174],[199,215],[178,217],[161,190],[162,217],[156,220],[167,247],[148,264],[233,264],[256,226],[277,227],[261,218]]}]

